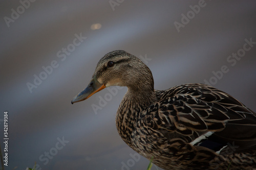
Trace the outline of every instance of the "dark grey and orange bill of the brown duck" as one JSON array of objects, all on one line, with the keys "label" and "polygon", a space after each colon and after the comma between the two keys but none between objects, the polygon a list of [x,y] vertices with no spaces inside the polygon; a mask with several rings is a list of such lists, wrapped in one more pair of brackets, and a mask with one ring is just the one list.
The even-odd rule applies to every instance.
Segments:
[{"label": "dark grey and orange bill of the brown duck", "polygon": [[77,94],[73,98],[71,103],[74,104],[76,102],[84,101],[84,100],[90,98],[90,96],[92,96],[94,93],[104,89],[105,87],[106,87],[105,84],[100,84],[98,82],[98,80],[96,80],[96,78],[93,78],[91,80],[91,82],[89,83],[89,85],[86,87],[86,89],[84,89],[79,94]]}]

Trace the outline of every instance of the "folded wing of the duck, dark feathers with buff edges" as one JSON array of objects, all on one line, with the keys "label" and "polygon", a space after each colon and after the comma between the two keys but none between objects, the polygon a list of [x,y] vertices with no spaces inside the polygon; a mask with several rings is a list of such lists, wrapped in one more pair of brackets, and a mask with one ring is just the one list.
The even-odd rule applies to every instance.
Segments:
[{"label": "folded wing of the duck, dark feathers with buff edges", "polygon": [[256,114],[231,95],[205,84],[156,91],[159,101],[142,111],[137,130],[221,153],[256,149]]}]

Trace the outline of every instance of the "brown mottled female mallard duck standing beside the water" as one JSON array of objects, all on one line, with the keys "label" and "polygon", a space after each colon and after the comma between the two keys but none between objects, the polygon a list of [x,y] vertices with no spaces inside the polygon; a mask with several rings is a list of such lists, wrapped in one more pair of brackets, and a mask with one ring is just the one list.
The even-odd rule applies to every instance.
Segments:
[{"label": "brown mottled female mallard duck standing beside the water", "polygon": [[205,84],[155,90],[151,70],[125,51],[106,54],[72,104],[127,86],[116,127],[136,152],[163,169],[256,169],[256,114]]}]

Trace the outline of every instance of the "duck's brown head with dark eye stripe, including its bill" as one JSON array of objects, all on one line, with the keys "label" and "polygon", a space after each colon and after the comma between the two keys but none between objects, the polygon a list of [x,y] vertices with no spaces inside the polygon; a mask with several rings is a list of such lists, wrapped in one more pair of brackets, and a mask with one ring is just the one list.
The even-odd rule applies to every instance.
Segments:
[{"label": "duck's brown head with dark eye stripe, including its bill", "polygon": [[102,57],[89,85],[71,103],[84,101],[109,86],[127,86],[130,91],[154,91],[151,70],[137,57],[121,50]]}]

